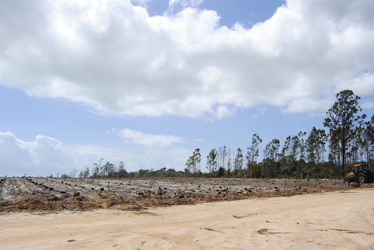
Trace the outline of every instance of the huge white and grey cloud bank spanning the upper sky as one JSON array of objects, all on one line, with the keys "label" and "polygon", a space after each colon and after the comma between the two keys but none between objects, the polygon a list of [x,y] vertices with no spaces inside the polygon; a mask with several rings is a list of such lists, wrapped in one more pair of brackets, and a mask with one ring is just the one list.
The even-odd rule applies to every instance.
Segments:
[{"label": "huge white and grey cloud bank spanning the upper sky", "polygon": [[213,119],[374,93],[373,1],[287,0],[250,29],[220,26],[200,3],[171,0],[183,8],[150,17],[130,0],[5,1],[0,84],[109,114]]}]

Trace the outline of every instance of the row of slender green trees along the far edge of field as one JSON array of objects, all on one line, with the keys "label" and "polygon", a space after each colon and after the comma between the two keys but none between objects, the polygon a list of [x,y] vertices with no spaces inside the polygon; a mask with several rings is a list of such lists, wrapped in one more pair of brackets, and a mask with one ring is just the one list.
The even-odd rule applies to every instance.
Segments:
[{"label": "row of slender green trees along the far edge of field", "polygon": [[[140,169],[128,173],[123,161],[117,166],[104,159],[80,171],[79,178],[143,178],[143,177],[226,177],[226,178],[342,178],[356,163],[374,165],[374,115],[367,120],[361,114],[360,97],[352,90],[336,94],[336,102],[326,112],[323,126],[313,126],[307,134],[300,131],[289,135],[284,143],[273,139],[264,145],[258,134],[253,134],[244,153],[223,145],[210,150],[206,156],[206,172],[201,170],[202,156],[197,148],[187,159],[185,171],[165,167]],[[260,157],[262,157],[260,159]],[[204,161],[203,161],[204,162]],[[74,175],[73,175],[74,174]],[[75,177],[76,169],[70,177]],[[69,177],[65,175],[64,177]]]}]

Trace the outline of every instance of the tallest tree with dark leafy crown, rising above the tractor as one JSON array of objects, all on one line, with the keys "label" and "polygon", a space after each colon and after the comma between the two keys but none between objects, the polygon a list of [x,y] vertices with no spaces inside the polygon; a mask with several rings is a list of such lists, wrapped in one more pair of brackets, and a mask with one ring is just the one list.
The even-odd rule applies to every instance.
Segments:
[{"label": "tallest tree with dark leafy crown, rising above the tractor", "polygon": [[358,106],[360,97],[356,96],[352,90],[342,90],[336,94],[337,101],[326,112],[323,125],[330,128],[330,136],[336,137],[341,150],[342,170],[345,172],[345,161],[347,143],[355,136],[355,127],[361,125],[366,115],[359,116],[361,107]]}]

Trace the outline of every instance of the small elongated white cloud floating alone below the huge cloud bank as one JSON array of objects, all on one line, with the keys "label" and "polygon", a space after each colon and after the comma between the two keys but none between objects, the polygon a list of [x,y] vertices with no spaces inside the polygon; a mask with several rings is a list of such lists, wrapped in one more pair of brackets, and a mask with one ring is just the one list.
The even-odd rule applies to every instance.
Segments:
[{"label": "small elongated white cloud floating alone below the huge cloud bank", "polygon": [[118,136],[125,140],[126,143],[141,144],[148,147],[169,147],[173,143],[183,143],[184,140],[172,135],[153,135],[145,134],[140,131],[123,128],[120,130],[113,129]]}]

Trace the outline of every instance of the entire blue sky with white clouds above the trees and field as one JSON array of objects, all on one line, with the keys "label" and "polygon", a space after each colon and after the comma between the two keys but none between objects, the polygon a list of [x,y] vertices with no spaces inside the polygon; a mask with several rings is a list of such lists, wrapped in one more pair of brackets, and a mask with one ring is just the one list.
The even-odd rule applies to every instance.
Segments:
[{"label": "entire blue sky with white clouds above the trees and field", "polygon": [[[20,3],[21,2],[21,3]],[[374,114],[372,0],[3,0],[0,176],[185,169]],[[327,129],[327,128],[326,128]],[[262,154],[260,154],[260,159]]]}]

